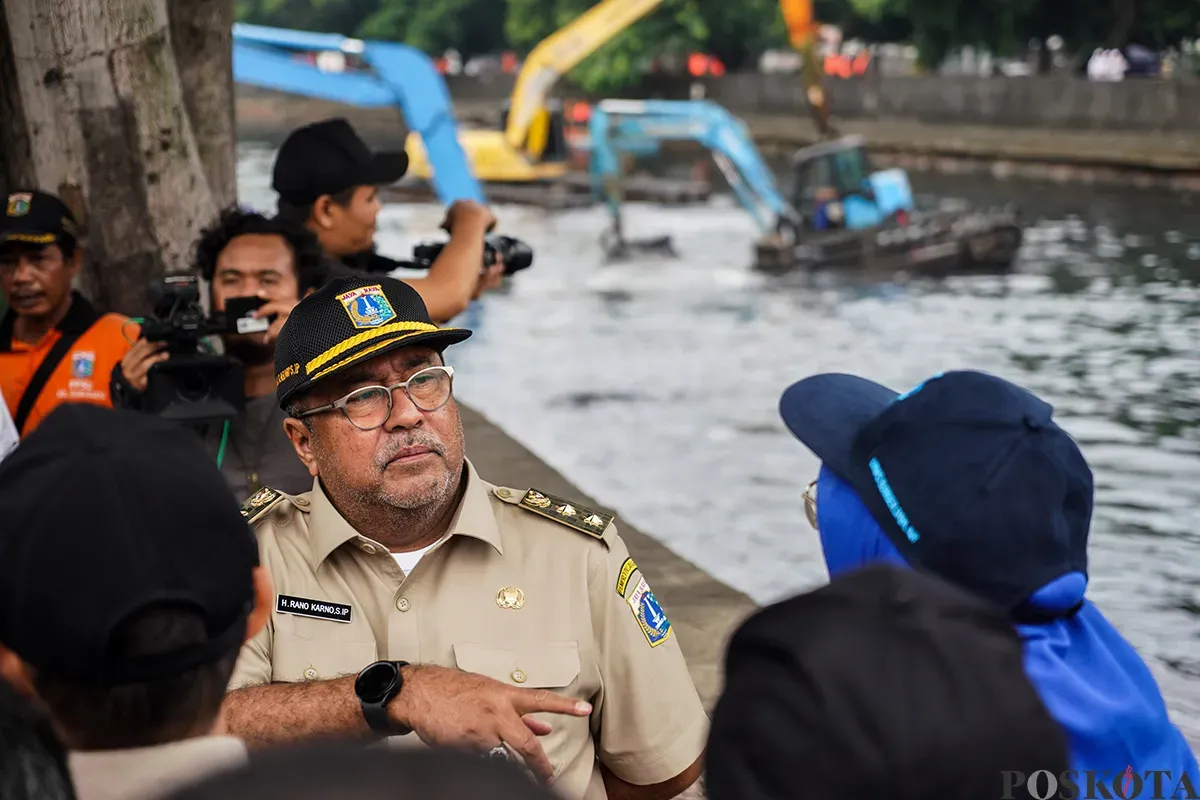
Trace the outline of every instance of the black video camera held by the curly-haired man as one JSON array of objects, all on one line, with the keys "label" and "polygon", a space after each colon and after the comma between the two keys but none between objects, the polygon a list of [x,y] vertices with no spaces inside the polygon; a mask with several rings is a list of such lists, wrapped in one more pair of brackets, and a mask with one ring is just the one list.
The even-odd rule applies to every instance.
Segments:
[{"label": "black video camera held by the curly-haired man", "polygon": [[226,315],[204,314],[199,281],[192,276],[169,277],[151,295],[154,311],[142,336],[166,342],[169,357],[150,368],[142,410],[186,423],[238,416],[246,407],[241,362],[200,350],[204,337],[230,332]]}]

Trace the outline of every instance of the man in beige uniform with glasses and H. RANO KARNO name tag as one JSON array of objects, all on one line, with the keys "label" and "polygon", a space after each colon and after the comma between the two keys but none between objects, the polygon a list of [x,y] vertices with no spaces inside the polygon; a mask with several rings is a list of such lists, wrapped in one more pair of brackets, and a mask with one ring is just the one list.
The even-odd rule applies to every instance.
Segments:
[{"label": "man in beige uniform with glasses and H. RANO KARNO name tag", "polygon": [[509,745],[568,798],[672,798],[708,720],[671,622],[611,516],[464,458],[442,350],[469,335],[389,278],[336,278],[292,312],[277,395],[316,480],[244,506],[278,595],[230,681],[230,729],[412,728]]}]

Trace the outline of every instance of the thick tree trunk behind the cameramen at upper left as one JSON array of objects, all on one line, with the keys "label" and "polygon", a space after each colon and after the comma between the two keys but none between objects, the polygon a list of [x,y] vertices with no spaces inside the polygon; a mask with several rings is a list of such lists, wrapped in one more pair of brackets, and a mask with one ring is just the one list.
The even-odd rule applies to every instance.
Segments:
[{"label": "thick tree trunk behind the cameramen at upper left", "polygon": [[[42,188],[76,210],[85,236],[83,288],[106,309],[146,312],[149,285],[188,269],[200,228],[236,192],[232,56],[223,56],[221,73],[196,66],[222,61],[197,40],[208,42],[199,31],[228,19],[232,10],[218,6],[230,0],[178,2],[191,6],[176,25],[188,59],[182,67],[167,0],[2,5],[0,188]],[[200,23],[197,7],[218,19]],[[181,74],[205,89],[186,104]],[[192,119],[203,124],[193,127]]]}]

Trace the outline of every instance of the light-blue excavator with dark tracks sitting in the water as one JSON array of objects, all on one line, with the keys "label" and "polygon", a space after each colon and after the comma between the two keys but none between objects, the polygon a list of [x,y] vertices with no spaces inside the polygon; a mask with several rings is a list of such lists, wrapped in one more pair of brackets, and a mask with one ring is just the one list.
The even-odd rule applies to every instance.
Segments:
[{"label": "light-blue excavator with dark tracks sitting in the water", "polygon": [[589,139],[592,190],[612,219],[600,240],[610,260],[677,254],[670,236],[630,240],[622,225],[624,162],[656,155],[671,140],[697,142],[712,152],[758,225],[761,270],[1006,270],[1021,241],[1012,209],[917,209],[908,174],[876,169],[857,136],[797,151],[781,188],[746,126],[710,101],[601,101]]}]

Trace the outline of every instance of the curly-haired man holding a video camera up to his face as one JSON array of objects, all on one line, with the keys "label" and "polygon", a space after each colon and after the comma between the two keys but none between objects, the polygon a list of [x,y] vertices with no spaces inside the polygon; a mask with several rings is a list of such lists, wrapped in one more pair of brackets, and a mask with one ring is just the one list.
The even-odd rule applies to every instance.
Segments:
[{"label": "curly-haired man holding a video camera up to his face", "polygon": [[[306,492],[312,476],[283,432],[274,360],[292,309],[325,283],[320,245],[284,219],[232,207],[200,234],[194,253],[212,315],[199,306],[194,278],[169,281],[156,319],[114,371],[114,397],[193,423],[238,499],[264,485]],[[202,353],[214,333],[224,355]]]}]

